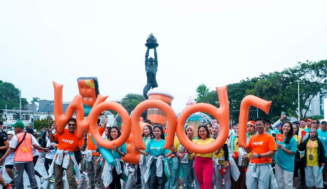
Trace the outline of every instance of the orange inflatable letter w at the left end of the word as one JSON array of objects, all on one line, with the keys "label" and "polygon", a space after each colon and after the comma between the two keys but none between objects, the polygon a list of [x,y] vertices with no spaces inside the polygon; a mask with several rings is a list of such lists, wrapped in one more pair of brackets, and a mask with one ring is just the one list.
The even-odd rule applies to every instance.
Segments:
[{"label": "orange inflatable letter w at the left end of the word", "polygon": [[[84,107],[82,102],[82,96],[76,95],[73,101],[69,104],[65,114],[62,113],[62,87],[63,85],[52,82],[55,97],[54,97],[54,116],[57,124],[57,133],[62,133],[65,129],[68,120],[72,118],[76,110],[76,126],[77,126],[77,137],[82,138],[83,134],[81,133],[83,128],[88,129],[89,123],[88,119],[84,120]],[[105,101],[108,96],[98,95],[93,107],[97,106],[99,103]],[[91,109],[92,112],[93,108]]]}]

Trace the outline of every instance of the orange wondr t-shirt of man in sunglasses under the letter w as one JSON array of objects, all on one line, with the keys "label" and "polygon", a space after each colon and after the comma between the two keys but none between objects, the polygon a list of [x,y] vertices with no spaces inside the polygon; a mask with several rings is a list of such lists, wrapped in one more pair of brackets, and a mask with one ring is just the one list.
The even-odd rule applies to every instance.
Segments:
[{"label": "orange wondr t-shirt of man in sunglasses under the letter w", "polygon": [[83,144],[83,138],[77,138],[77,131],[71,134],[68,129],[64,129],[63,133],[56,133],[53,137],[55,138],[55,141],[58,140],[57,148],[59,150],[70,150],[76,152],[77,147],[81,147]]}]

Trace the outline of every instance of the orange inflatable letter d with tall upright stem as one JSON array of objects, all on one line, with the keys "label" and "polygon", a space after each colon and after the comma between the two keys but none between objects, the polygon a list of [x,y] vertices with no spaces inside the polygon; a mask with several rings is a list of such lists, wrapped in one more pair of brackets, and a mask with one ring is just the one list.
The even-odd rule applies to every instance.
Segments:
[{"label": "orange inflatable letter d with tall upright stem", "polygon": [[[219,99],[219,108],[211,104],[206,103],[197,103],[186,107],[178,116],[177,119],[177,137],[183,146],[195,153],[198,154],[208,154],[219,149],[227,140],[229,133],[229,104],[227,96],[227,86],[225,87],[216,87]],[[211,144],[207,145],[198,145],[193,143],[185,134],[184,124],[189,116],[196,112],[206,112],[214,116],[220,125],[220,131],[218,137]],[[170,128],[168,127],[168,130]]]}]

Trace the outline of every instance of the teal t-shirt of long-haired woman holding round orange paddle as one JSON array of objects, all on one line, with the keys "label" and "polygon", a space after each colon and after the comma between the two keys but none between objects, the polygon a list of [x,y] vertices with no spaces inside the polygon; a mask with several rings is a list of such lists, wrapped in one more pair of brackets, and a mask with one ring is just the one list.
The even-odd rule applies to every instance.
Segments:
[{"label": "teal t-shirt of long-haired woman holding round orange paddle", "polygon": [[[280,144],[287,150],[296,153],[297,143],[295,138],[292,137],[288,144],[285,144],[285,140],[286,137],[283,142],[280,142]],[[277,148],[275,161],[277,161],[278,165],[280,165],[285,171],[294,172],[294,155],[287,154],[284,150]]]}]

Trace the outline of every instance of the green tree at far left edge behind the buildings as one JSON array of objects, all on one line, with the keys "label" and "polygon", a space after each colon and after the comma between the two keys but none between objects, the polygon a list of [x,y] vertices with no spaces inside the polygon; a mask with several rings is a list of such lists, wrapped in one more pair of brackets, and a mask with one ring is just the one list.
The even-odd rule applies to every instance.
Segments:
[{"label": "green tree at far left edge behind the buildings", "polygon": [[[14,84],[9,82],[3,82],[0,80],[0,108],[19,110],[19,89]],[[22,98],[22,108],[25,104],[28,104],[26,98]]]}]

